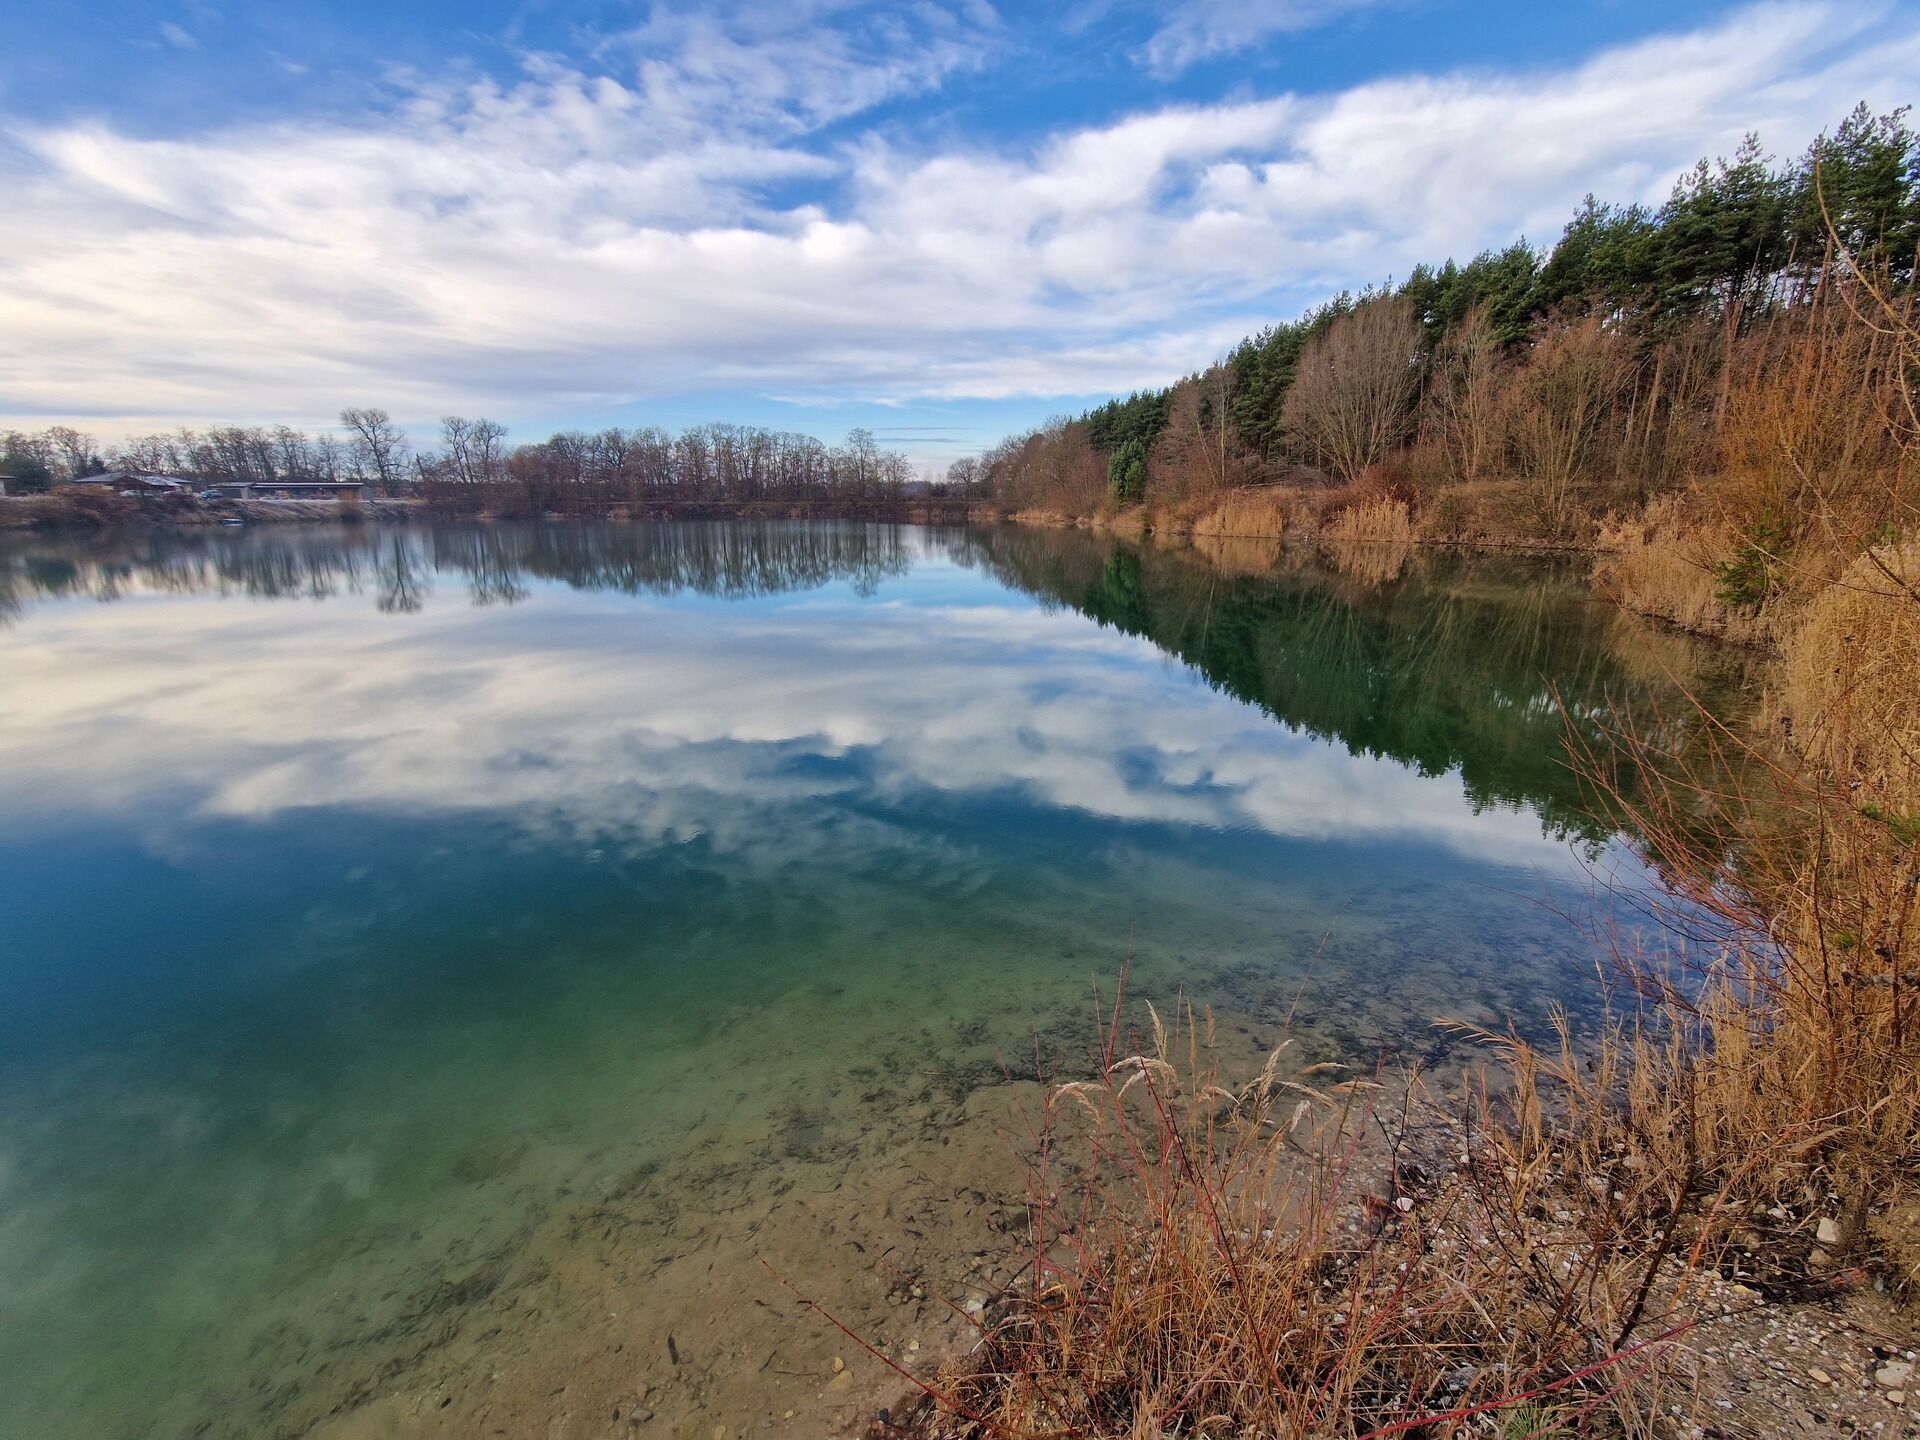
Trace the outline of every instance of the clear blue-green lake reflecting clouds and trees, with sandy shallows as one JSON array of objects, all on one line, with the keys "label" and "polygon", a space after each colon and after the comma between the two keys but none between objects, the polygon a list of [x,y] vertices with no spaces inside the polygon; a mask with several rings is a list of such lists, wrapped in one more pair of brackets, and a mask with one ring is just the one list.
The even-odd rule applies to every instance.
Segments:
[{"label": "clear blue-green lake reflecting clouds and trees, with sandy shallows", "polygon": [[0,538],[0,1432],[822,1434],[885,1377],[776,1275],[950,1338],[1123,966],[1361,1069],[1590,1018],[1561,703],[1726,664],[1379,547]]}]

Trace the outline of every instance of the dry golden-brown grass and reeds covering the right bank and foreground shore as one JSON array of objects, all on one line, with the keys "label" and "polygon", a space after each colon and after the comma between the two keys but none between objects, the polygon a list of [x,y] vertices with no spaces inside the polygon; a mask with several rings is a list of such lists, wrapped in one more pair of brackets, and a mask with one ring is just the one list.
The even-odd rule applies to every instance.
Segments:
[{"label": "dry golden-brown grass and reeds covering the right bank and foreground shore", "polygon": [[[1659,726],[1574,747],[1590,776],[1634,768],[1613,799],[1674,935],[1622,945],[1617,1023],[1486,1035],[1486,1071],[1440,1096],[1288,1073],[1284,1048],[1244,1081],[1204,1016],[1135,1044],[1116,1006],[1100,1071],[1037,1121],[1021,1288],[929,1382],[924,1432],[1686,1434],[1722,1419],[1688,1371],[1711,1327],[1912,1298],[1916,392],[1910,298],[1830,280],[1734,348],[1684,486],[1571,515],[1620,605],[1780,655],[1766,722],[1711,724],[1707,755]],[[1436,515],[1494,493],[1369,474],[1315,520],[1457,540]],[[1192,532],[1292,522],[1263,507],[1221,495]]]}]

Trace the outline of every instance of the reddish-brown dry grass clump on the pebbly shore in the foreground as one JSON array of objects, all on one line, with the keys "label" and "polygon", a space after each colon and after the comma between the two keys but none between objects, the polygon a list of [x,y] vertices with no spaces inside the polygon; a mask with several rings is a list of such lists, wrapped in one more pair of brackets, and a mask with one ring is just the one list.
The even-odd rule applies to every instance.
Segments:
[{"label": "reddish-brown dry grass clump on the pebbly shore in the foreground", "polygon": [[[1417,1077],[1288,1071],[1283,1044],[1229,1081],[1210,1041],[1185,1010],[1133,1050],[1116,1014],[1100,1075],[1054,1091],[1025,1284],[916,1432],[1532,1434],[1649,1411],[1713,1252],[1674,1221],[1684,1173],[1597,1123],[1569,1154],[1542,1123],[1546,1071],[1588,1073],[1571,1041],[1498,1041],[1526,1100],[1482,1091],[1438,1164],[1409,1158]],[[1613,1083],[1624,1050],[1603,1056]]]}]

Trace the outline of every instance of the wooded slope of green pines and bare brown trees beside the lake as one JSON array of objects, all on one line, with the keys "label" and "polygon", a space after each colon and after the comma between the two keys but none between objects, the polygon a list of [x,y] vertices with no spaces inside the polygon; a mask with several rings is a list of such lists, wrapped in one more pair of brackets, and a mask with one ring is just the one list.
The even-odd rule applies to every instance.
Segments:
[{"label": "wooded slope of green pines and bare brown trees beside the lake", "polygon": [[1365,478],[1432,538],[1578,540],[1726,468],[1786,403],[1759,392],[1788,351],[1870,346],[1839,338],[1832,280],[1910,294],[1916,248],[1920,142],[1905,109],[1860,106],[1791,163],[1749,136],[1665,205],[1588,196],[1549,250],[1336,296],[1177,384],[1010,436],[966,480],[1012,509],[1179,516],[1223,490]]}]

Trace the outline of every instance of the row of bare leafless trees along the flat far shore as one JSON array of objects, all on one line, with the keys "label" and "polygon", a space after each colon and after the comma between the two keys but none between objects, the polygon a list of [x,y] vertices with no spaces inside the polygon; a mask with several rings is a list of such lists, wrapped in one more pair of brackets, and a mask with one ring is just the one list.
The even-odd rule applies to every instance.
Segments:
[{"label": "row of bare leafless trees along the flat far shore", "polygon": [[[906,455],[870,430],[839,445],[743,424],[563,430],[509,445],[497,420],[447,415],[434,444],[417,445],[374,407],[340,413],[338,430],[209,426],[102,445],[71,426],[0,432],[0,478],[40,490],[106,470],[184,476],[207,484],[359,480],[384,495],[422,495],[451,511],[540,513],[649,501],[874,501],[918,478]],[[941,484],[945,490],[945,482]]]}]

